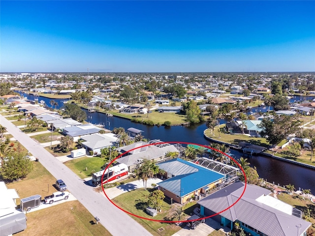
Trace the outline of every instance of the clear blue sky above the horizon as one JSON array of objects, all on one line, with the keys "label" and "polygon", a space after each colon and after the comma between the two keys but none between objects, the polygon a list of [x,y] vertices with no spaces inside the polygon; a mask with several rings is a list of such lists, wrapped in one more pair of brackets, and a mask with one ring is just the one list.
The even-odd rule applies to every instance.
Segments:
[{"label": "clear blue sky above the horizon", "polygon": [[0,1],[0,72],[315,71],[315,1]]}]

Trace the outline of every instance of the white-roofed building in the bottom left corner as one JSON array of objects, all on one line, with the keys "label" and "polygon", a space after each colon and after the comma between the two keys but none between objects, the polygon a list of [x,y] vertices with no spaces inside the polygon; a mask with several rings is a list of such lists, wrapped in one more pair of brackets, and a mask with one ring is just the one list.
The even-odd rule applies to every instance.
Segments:
[{"label": "white-roofed building in the bottom left corner", "polygon": [[26,229],[26,215],[16,209],[20,198],[15,189],[8,189],[0,182],[0,235],[12,235]]}]

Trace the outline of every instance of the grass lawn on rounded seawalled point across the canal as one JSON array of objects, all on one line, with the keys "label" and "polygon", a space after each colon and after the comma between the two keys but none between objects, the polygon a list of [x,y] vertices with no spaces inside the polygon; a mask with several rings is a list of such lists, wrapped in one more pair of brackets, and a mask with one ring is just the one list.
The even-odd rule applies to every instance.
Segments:
[{"label": "grass lawn on rounded seawalled point across the canal", "polygon": [[[220,125],[221,130],[224,127],[224,125],[225,124]],[[269,146],[269,143],[265,138],[255,138],[255,137],[251,137],[251,136],[247,136],[243,134],[224,134],[222,132],[220,132],[219,134],[218,126],[215,128],[215,135],[212,135],[212,132],[210,129],[207,129],[205,131],[205,134],[209,138],[213,138],[213,139],[216,139],[225,143],[229,143],[229,144],[234,144],[234,145],[238,145],[240,142],[245,141],[245,142],[259,145],[266,148]]]}]

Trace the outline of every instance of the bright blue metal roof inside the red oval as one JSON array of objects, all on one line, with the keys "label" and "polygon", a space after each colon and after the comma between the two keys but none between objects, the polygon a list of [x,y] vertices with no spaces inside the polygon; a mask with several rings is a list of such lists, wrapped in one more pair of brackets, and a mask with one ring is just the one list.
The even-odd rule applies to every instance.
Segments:
[{"label": "bright blue metal roof inside the red oval", "polygon": [[[180,197],[186,196],[187,194],[194,192],[200,188],[203,188],[224,177],[224,175],[221,175],[217,172],[211,171],[202,166],[193,164],[189,161],[185,161],[179,158],[158,163],[158,166],[163,163],[171,164],[171,162],[181,162],[190,167],[194,167],[191,169],[193,170],[192,173],[178,175],[158,183],[158,185],[161,186],[162,188],[165,188],[168,191]],[[174,165],[174,167],[175,166],[176,165]],[[195,169],[198,169],[198,171],[196,172]],[[175,170],[171,172],[176,173]]]}]

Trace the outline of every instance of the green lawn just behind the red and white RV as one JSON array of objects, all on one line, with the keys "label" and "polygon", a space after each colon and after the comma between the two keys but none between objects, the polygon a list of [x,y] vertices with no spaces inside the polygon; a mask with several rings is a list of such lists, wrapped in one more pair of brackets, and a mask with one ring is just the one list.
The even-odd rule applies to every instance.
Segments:
[{"label": "green lawn just behind the red and white RV", "polygon": [[[91,177],[92,172],[101,170],[101,166],[105,164],[104,159],[100,157],[80,157],[64,163],[80,178]],[[88,170],[86,171],[86,167]]]}]

